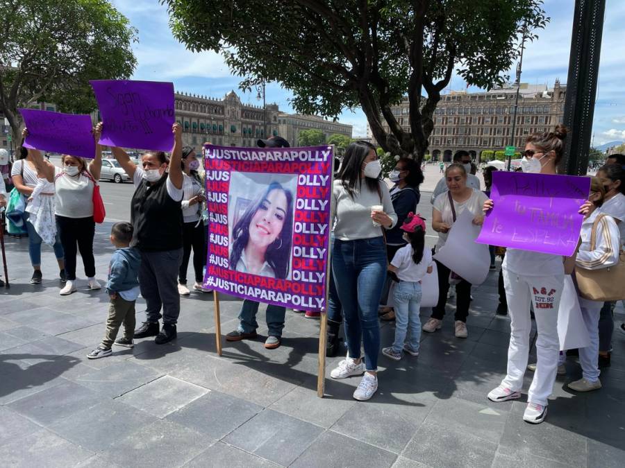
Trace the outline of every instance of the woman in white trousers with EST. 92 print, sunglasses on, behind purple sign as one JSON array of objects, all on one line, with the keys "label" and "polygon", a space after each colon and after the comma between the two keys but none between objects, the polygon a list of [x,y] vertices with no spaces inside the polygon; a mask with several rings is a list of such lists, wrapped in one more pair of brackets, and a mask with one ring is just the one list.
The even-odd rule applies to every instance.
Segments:
[{"label": "woman in white trousers with EST. 92 print, sunglasses on, behind purple sign", "polygon": [[[522,159],[523,172],[555,175],[564,151],[566,135],[564,125],[556,126],[553,132],[530,135]],[[583,207],[585,210],[588,209],[587,205]],[[492,200],[485,202],[484,209],[492,209]],[[490,391],[488,399],[506,401],[521,397],[530,349],[532,304],[538,333],[538,359],[523,415],[524,421],[532,424],[544,421],[547,398],[556,381],[560,354],[558,306],[564,286],[564,260],[560,255],[509,248],[502,266],[510,315],[508,372],[499,387]]]}]

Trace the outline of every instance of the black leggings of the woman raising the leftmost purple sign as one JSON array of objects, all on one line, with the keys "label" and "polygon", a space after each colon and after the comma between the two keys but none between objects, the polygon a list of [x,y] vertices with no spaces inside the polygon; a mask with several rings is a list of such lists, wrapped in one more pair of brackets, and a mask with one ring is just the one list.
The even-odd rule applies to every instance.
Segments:
[{"label": "black leggings of the woman raising the leftmost purple sign", "polygon": [[[95,259],[93,258],[93,238],[95,223],[93,216],[88,218],[66,218],[56,215],[58,236],[63,245],[65,258],[65,274],[67,279],[76,279],[76,253],[81,252],[85,275],[88,278],[95,276]],[[76,246],[78,248],[76,249]]]}]

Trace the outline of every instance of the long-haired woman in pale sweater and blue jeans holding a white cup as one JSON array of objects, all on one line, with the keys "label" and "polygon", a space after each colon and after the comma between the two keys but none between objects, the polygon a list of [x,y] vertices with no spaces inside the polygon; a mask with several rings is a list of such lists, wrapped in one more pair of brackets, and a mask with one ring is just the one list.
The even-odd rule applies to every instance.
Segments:
[{"label": "long-haired woman in pale sweater and blue jeans holding a white cup", "polygon": [[[336,224],[332,272],[343,308],[349,352],[330,375],[345,379],[364,374],[353,392],[357,400],[371,398],[378,389],[378,304],[386,278],[382,229],[391,229],[397,223],[388,187],[380,179],[381,171],[374,146],[355,141],[345,151],[333,187]],[[364,361],[360,356],[361,340]]]}]

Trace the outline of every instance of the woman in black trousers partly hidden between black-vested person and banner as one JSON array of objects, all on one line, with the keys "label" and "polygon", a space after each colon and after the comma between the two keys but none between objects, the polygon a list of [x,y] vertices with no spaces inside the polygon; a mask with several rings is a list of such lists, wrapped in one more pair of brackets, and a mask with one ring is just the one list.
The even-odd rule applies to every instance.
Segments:
[{"label": "woman in black trousers partly hidden between black-vested person and banner", "polygon": [[195,291],[204,291],[204,266],[206,265],[206,228],[201,220],[204,188],[197,170],[200,162],[191,146],[185,146],[182,153],[183,169],[183,259],[178,271],[178,293],[183,296],[190,294],[187,287],[187,270],[191,249],[193,249],[193,270],[195,273]]}]

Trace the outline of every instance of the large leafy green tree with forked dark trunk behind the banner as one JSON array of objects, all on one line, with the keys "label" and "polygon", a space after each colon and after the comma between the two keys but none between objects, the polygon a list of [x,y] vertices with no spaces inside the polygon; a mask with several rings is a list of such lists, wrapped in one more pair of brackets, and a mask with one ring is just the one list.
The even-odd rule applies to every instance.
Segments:
[{"label": "large leafy green tree with forked dark trunk behind the banner", "polygon": [[[278,81],[303,114],[361,107],[386,152],[419,160],[453,72],[502,85],[522,35],[532,40],[548,21],[542,0],[162,1],[178,40],[224,53],[242,89]],[[403,96],[410,130],[391,109]]]}]

